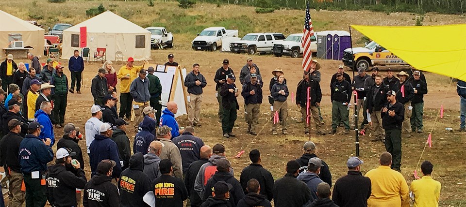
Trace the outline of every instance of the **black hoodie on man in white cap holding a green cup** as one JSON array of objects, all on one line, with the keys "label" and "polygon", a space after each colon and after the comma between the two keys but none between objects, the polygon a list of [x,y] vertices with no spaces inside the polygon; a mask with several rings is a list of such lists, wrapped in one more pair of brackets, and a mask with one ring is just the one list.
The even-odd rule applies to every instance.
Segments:
[{"label": "black hoodie on man in white cap holding a green cup", "polygon": [[52,206],[77,206],[76,189],[83,189],[87,179],[83,169],[55,164],[47,174],[47,199]]}]

